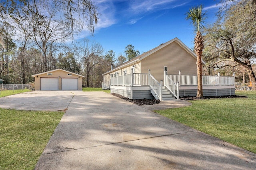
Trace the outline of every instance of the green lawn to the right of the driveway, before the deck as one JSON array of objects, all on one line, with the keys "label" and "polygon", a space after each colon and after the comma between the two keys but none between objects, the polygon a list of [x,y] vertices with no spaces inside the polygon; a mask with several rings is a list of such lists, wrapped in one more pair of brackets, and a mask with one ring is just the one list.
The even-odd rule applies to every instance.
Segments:
[{"label": "green lawn to the right of the driveway, before the deck", "polygon": [[195,100],[188,107],[155,112],[256,153],[256,91],[236,95],[248,98]]}]

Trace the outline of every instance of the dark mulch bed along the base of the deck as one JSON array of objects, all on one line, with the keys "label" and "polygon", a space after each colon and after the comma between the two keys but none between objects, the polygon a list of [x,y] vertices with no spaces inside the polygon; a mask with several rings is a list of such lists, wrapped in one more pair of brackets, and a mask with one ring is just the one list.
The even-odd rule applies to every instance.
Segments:
[{"label": "dark mulch bed along the base of the deck", "polygon": [[[116,96],[118,98],[121,98],[123,100],[126,100],[128,102],[132,102],[133,104],[136,104],[138,106],[145,106],[145,105],[153,105],[153,104],[159,104],[160,100],[156,99],[129,99],[124,96],[121,96],[120,94],[112,93],[113,96]],[[246,96],[207,96],[207,97],[193,97],[193,96],[186,96],[181,97],[180,100],[204,100],[204,99],[211,99],[211,98],[247,98]]]}]

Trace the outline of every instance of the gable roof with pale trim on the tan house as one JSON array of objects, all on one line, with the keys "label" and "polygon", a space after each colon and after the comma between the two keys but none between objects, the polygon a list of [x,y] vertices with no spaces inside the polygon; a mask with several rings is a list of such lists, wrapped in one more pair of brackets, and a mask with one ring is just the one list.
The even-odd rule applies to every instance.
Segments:
[{"label": "gable roof with pale trim on the tan house", "polygon": [[[120,68],[122,68],[122,67],[124,67],[124,66],[130,65],[130,64],[133,64],[133,63],[136,63],[137,61],[141,61],[141,60],[143,60],[144,58],[148,57],[149,55],[155,53],[156,51],[158,51],[158,50],[160,50],[160,49],[166,47],[167,45],[169,45],[169,44],[171,44],[171,43],[173,43],[173,42],[178,43],[178,45],[180,45],[184,50],[186,50],[190,55],[192,55],[192,57],[194,57],[195,59],[197,59],[196,54],[195,54],[191,49],[189,49],[188,46],[186,46],[184,43],[182,43],[182,41],[180,41],[180,39],[178,39],[178,38],[176,37],[176,38],[174,38],[174,39],[172,39],[172,40],[170,40],[170,41],[168,41],[168,42],[166,42],[166,43],[160,44],[158,47],[155,47],[154,49],[151,49],[150,51],[147,51],[147,52],[143,53],[142,55],[139,55],[139,56],[137,56],[137,57],[135,57],[135,58],[133,58],[133,59],[131,59],[131,60],[129,60],[129,61],[123,63],[123,64],[120,64],[120,65],[117,66],[116,68],[114,68],[114,69],[112,69],[112,70],[110,70],[110,71],[108,71],[108,72],[106,72],[106,73],[104,73],[104,74],[102,74],[102,75],[106,75],[106,74],[108,74],[109,72],[113,72],[113,71],[115,71],[115,70],[119,70]],[[204,62],[203,60],[202,60],[202,63],[205,64],[205,62]]]}]

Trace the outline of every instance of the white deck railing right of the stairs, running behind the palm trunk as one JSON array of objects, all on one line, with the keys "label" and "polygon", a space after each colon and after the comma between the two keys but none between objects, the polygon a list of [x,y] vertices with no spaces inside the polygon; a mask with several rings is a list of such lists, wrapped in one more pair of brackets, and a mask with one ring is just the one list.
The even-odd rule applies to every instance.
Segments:
[{"label": "white deck railing right of the stairs, running behind the palm trunk", "polygon": [[[166,75],[180,86],[197,86],[197,76],[191,75]],[[231,86],[235,84],[234,76],[202,76],[203,86]]]}]

